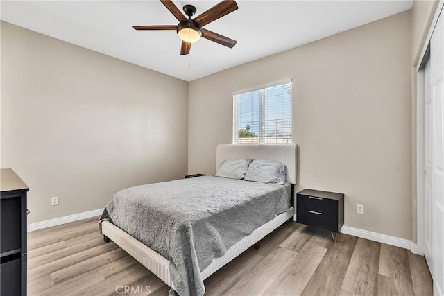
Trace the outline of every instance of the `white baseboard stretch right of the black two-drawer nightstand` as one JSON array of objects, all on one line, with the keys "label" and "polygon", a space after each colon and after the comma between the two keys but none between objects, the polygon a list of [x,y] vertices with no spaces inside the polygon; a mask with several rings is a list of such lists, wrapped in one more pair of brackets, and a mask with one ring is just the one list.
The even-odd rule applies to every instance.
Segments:
[{"label": "white baseboard stretch right of the black two-drawer nightstand", "polygon": [[350,234],[351,236],[366,238],[370,241],[377,241],[379,243],[386,243],[387,245],[394,245],[395,247],[402,247],[403,249],[411,250],[413,254],[418,254],[418,245],[405,238],[378,234],[377,232],[369,232],[368,230],[345,225],[343,225],[341,232],[343,234]]}]

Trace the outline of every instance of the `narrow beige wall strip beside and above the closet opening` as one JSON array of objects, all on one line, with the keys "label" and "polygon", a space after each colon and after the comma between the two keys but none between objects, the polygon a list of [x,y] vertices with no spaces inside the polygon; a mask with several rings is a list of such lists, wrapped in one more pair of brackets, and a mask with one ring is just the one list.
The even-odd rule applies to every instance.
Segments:
[{"label": "narrow beige wall strip beside and above the closet opening", "polygon": [[417,242],[417,207],[416,207],[416,154],[417,154],[417,130],[416,130],[416,67],[420,63],[420,54],[425,44],[427,33],[429,33],[432,20],[438,6],[439,1],[429,0],[415,0],[411,8],[411,146],[412,146],[412,176],[411,176],[411,191],[412,191],[412,241]]}]

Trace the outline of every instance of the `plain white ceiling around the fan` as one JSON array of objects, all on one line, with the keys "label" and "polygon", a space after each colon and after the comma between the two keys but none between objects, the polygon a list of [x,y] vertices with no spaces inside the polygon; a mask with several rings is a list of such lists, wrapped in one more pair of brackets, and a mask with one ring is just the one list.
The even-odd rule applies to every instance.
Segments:
[{"label": "plain white ceiling around the fan", "polygon": [[[219,0],[174,0],[197,8]],[[135,31],[176,25],[160,1],[1,1],[1,19],[93,51],[191,81],[408,10],[408,1],[245,1],[205,28],[237,40],[229,49],[209,40],[180,55],[176,31]],[[189,66],[190,62],[190,66]]]}]

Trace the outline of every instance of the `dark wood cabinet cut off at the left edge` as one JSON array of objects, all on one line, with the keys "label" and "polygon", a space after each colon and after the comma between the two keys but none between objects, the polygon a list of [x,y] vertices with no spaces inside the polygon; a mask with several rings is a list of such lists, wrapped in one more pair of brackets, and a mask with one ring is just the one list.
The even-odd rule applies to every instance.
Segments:
[{"label": "dark wood cabinet cut off at the left edge", "polygon": [[26,194],[10,168],[0,175],[0,295],[26,295]]}]

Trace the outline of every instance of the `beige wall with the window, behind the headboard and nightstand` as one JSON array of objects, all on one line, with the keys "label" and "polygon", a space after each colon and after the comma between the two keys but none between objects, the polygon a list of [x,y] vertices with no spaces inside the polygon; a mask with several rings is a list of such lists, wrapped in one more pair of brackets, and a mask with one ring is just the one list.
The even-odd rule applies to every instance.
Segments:
[{"label": "beige wall with the window, behind the headboard and nightstand", "polygon": [[409,10],[194,80],[188,173],[214,173],[231,143],[232,92],[292,78],[297,189],[345,193],[345,225],[410,239],[410,73]]}]

